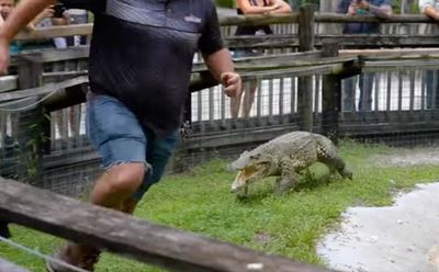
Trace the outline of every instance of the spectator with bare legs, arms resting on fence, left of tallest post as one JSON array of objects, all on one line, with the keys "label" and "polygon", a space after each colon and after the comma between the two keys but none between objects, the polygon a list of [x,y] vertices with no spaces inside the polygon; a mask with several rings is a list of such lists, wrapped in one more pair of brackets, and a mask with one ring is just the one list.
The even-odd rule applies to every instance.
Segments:
[{"label": "spectator with bare legs, arms resting on fence, left of tallest post", "polygon": [[[290,5],[282,0],[236,0],[238,14],[280,14],[290,13]],[[238,26],[236,29],[235,35],[267,35],[273,34],[269,25],[246,25]],[[258,53],[246,49],[235,50],[234,57],[250,57],[257,56]],[[243,103],[241,116],[248,117],[251,105],[255,101],[255,93],[258,88],[257,81],[251,80],[249,83],[249,90],[245,90],[243,86],[241,94],[237,99],[230,100],[230,114],[232,117],[236,118],[239,115],[240,104]],[[243,99],[243,93],[244,99]],[[241,102],[241,100],[244,100]]]}]

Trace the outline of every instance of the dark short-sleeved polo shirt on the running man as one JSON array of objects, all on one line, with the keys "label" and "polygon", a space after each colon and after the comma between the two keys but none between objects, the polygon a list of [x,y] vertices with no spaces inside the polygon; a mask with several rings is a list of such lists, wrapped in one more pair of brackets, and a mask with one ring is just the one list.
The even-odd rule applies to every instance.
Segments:
[{"label": "dark short-sleeved polo shirt on the running man", "polygon": [[[78,1],[78,0],[70,0]],[[94,12],[92,92],[131,109],[158,136],[181,124],[194,53],[224,47],[211,0],[80,0]]]}]

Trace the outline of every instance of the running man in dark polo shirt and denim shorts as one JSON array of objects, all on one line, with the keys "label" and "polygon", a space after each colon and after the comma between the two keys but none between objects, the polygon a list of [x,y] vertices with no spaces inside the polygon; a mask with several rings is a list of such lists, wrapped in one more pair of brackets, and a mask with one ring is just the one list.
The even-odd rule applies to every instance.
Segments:
[{"label": "running man in dark polo shirt and denim shorts", "polygon": [[[80,7],[65,4],[94,13],[87,126],[106,169],[95,182],[91,203],[131,214],[160,180],[176,148],[194,53],[201,50],[228,97],[239,94],[240,77],[234,72],[210,0],[78,2]],[[50,3],[19,2],[0,30],[0,71],[7,70],[13,36]],[[57,257],[92,271],[99,250],[69,242]],[[50,262],[47,268],[65,271]]]}]

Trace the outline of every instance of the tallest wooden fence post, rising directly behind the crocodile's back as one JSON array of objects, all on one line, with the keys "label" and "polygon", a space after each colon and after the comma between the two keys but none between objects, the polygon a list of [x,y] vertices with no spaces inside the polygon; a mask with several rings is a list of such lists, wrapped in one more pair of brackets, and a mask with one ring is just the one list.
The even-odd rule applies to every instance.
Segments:
[{"label": "tallest wooden fence post, rising directly behind the crocodile's back", "polygon": [[[300,8],[299,14],[299,50],[314,50],[314,16],[316,5],[304,5]],[[299,127],[302,131],[313,131],[313,77],[299,78],[297,82],[297,113],[302,121]]]}]

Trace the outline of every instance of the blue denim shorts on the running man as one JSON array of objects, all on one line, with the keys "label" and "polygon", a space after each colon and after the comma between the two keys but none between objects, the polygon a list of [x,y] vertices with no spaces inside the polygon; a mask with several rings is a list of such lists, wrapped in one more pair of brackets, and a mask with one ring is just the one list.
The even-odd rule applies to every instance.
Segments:
[{"label": "blue denim shorts on the running man", "polygon": [[87,133],[102,157],[103,168],[145,163],[144,182],[133,195],[137,201],[160,180],[180,138],[178,129],[164,138],[156,137],[121,101],[94,93],[88,94]]}]

